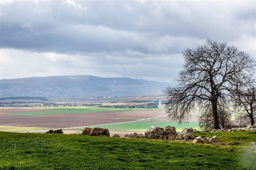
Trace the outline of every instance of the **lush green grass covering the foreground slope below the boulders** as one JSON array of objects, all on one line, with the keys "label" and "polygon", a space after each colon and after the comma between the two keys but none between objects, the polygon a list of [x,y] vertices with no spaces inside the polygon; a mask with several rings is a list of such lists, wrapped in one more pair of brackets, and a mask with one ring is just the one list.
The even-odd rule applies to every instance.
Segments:
[{"label": "lush green grass covering the foreground slope below the boulders", "polygon": [[0,169],[256,169],[256,132],[200,135],[238,145],[0,132]]}]

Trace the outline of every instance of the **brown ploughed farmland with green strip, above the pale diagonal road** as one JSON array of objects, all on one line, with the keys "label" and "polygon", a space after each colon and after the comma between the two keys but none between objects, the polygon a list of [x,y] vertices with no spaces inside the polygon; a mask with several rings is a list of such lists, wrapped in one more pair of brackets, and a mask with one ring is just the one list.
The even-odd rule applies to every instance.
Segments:
[{"label": "brown ploughed farmland with green strip, above the pale diagonal road", "polygon": [[[40,128],[42,130],[45,128],[64,129],[133,122],[165,114],[161,108],[109,107],[1,107],[0,111],[1,129],[10,132],[16,132],[19,129],[15,127],[22,127],[18,130],[19,132]],[[25,127],[28,128],[24,129]]]}]

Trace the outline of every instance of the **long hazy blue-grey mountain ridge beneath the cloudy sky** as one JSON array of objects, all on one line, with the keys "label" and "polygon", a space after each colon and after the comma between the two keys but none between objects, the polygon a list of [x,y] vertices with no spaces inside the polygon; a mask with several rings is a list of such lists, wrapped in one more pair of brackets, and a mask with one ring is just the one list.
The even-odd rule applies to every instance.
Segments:
[{"label": "long hazy blue-grey mountain ridge beneath the cloudy sky", "polygon": [[159,95],[173,83],[132,78],[49,76],[0,80],[1,97],[98,97]]}]

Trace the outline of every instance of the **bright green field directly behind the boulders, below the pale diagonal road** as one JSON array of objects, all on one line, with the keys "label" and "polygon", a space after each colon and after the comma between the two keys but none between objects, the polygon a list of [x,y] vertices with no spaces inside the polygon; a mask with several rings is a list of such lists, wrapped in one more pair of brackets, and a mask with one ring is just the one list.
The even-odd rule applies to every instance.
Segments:
[{"label": "bright green field directly behind the boulders, below the pale diagonal road", "polygon": [[93,128],[108,128],[109,130],[147,130],[150,126],[158,126],[165,128],[167,125],[175,126],[176,131],[181,131],[183,128],[192,127],[193,129],[199,129],[199,124],[196,122],[178,123],[178,122],[130,122],[130,123],[118,123],[111,125],[91,126]]}]

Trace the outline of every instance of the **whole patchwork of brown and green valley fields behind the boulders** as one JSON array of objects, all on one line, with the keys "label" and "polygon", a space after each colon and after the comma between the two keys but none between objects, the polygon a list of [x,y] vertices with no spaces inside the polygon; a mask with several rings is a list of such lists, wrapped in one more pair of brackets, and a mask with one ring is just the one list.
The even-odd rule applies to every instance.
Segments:
[{"label": "whole patchwork of brown and green valley fields behind the boulders", "polygon": [[[142,98],[151,99],[154,98]],[[105,102],[103,105],[144,104],[140,98],[132,101]],[[159,98],[156,98],[157,100]],[[117,100],[117,99],[115,99]],[[135,101],[136,102],[133,102]],[[141,101],[141,102],[137,102]],[[196,116],[191,122],[178,124],[170,122],[162,108],[114,108],[114,107],[0,107],[0,131],[31,132],[45,129],[65,129],[73,133],[84,127],[107,127],[110,134],[144,133],[150,126],[175,126],[177,131],[184,127],[198,129]],[[196,115],[196,113],[193,113]],[[139,122],[138,122],[139,121]],[[79,128],[77,128],[79,127]],[[44,132],[44,131],[42,131]]]}]

